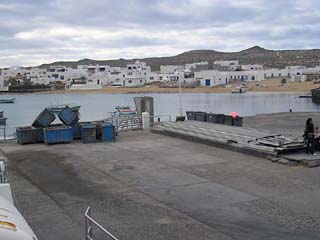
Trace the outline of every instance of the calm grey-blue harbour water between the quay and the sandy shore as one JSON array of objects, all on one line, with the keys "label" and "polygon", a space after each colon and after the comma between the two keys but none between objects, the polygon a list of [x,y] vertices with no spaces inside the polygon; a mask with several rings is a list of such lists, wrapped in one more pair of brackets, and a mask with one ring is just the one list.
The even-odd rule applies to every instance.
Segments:
[{"label": "calm grey-blue harbour water between the quay and the sandy shore", "polygon": [[[107,117],[117,105],[130,105],[134,108],[133,97],[154,97],[155,114],[175,117],[179,108],[179,94],[23,94],[5,95],[15,97],[14,104],[0,104],[0,111],[8,118],[8,132],[13,133],[17,126],[31,125],[37,115],[50,105],[62,103],[81,105],[81,120],[97,120]],[[199,110],[228,114],[232,111],[241,116],[259,113],[320,111],[320,106],[311,99],[298,98],[300,94],[290,93],[184,93],[183,110]],[[0,133],[1,135],[2,133]]]}]

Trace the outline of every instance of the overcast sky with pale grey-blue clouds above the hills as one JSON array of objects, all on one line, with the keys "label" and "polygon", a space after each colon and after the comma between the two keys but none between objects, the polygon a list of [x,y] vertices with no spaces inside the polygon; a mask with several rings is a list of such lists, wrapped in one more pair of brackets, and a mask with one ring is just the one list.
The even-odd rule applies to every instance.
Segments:
[{"label": "overcast sky with pale grey-blue clouds above the hills", "polygon": [[319,0],[0,0],[0,67],[319,48]]}]

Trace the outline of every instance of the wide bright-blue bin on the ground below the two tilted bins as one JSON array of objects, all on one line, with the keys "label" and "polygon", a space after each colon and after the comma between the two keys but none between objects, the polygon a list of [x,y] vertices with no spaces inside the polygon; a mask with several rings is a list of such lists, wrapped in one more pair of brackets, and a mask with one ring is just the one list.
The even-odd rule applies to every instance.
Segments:
[{"label": "wide bright-blue bin on the ground below the two tilted bins", "polygon": [[55,126],[44,129],[44,142],[46,144],[70,143],[73,141],[72,128],[68,126]]}]

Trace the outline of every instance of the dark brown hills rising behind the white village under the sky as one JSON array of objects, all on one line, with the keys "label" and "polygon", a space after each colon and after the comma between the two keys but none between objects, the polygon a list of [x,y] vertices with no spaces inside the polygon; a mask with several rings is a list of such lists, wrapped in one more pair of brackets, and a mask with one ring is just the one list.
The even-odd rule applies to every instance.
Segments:
[{"label": "dark brown hills rising behind the white village under the sky", "polygon": [[214,50],[192,50],[172,57],[152,57],[142,59],[117,59],[117,60],[93,60],[82,59],[76,62],[64,61],[43,64],[39,67],[47,68],[54,65],[64,65],[76,68],[77,65],[109,65],[124,67],[128,63],[136,60],[146,62],[151,66],[152,71],[160,69],[160,65],[178,65],[208,61],[212,64],[217,60],[239,60],[241,64],[263,64],[266,67],[282,68],[289,65],[320,65],[320,49],[310,50],[268,50],[259,46],[254,46],[240,52],[218,52]]}]

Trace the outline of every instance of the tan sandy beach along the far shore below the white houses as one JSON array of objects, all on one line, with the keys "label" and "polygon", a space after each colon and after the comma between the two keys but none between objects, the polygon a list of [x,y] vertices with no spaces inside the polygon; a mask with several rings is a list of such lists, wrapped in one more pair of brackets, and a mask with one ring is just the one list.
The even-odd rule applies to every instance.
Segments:
[{"label": "tan sandy beach along the far shore below the white houses", "polygon": [[[260,82],[246,82],[248,91],[250,92],[292,92],[309,94],[310,90],[319,87],[313,82],[292,83],[281,85],[280,79],[265,80]],[[197,87],[197,88],[183,88],[184,93],[231,93],[236,84],[230,84],[227,87]],[[160,88],[158,86],[145,87],[105,87],[102,89],[93,90],[59,90],[46,92],[47,94],[66,94],[66,93],[101,93],[101,94],[116,94],[116,93],[177,93],[178,88]]]}]

